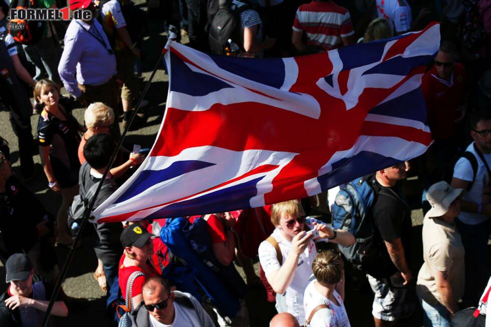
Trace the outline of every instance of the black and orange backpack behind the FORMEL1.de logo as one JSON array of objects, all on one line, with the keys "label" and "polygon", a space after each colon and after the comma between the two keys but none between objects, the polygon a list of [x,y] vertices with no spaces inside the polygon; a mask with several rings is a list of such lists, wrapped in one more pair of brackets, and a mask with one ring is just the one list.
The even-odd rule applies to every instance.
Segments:
[{"label": "black and orange backpack behind the FORMEL1.de logo", "polygon": [[[36,0],[13,0],[10,4],[11,9],[40,8]],[[23,28],[9,28],[9,34],[14,37],[17,43],[34,45],[43,37],[46,28],[46,21],[28,21],[15,19],[9,22],[10,27],[23,26]]]}]

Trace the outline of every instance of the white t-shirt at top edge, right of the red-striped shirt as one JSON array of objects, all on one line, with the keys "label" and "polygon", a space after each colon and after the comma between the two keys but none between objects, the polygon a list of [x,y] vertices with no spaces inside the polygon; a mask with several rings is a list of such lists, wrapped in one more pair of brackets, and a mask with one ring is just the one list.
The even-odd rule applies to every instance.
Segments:
[{"label": "white t-shirt at top edge, right of the red-striped shirt", "polygon": [[411,7],[405,0],[377,0],[377,15],[392,22],[398,33],[411,28]]}]

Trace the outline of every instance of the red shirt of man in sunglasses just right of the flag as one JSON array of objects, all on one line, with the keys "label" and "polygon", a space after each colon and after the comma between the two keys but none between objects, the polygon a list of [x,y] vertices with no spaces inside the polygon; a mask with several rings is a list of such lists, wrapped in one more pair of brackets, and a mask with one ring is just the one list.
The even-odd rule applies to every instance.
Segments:
[{"label": "red shirt of man in sunglasses just right of the flag", "polygon": [[424,74],[421,90],[434,139],[446,140],[455,134],[454,120],[460,117],[457,109],[464,104],[466,79],[465,69],[458,63],[453,67],[449,82],[439,77],[434,66]]}]

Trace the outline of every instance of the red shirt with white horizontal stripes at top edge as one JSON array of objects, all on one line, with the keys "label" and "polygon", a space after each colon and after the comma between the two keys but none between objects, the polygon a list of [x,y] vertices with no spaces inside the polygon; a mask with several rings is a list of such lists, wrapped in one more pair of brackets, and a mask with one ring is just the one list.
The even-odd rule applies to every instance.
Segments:
[{"label": "red shirt with white horizontal stripes at top edge", "polygon": [[325,50],[339,48],[343,45],[341,38],[355,34],[351,24],[350,13],[346,8],[335,3],[312,1],[299,7],[293,30],[307,33],[307,44],[319,46]]}]

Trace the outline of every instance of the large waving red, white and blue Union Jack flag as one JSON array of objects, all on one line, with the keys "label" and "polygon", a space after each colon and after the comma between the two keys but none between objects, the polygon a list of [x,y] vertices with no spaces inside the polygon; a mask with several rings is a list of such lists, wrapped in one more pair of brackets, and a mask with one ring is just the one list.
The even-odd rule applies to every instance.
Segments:
[{"label": "large waving red, white and blue Union Jack flag", "polygon": [[424,153],[421,77],[439,26],[312,56],[243,59],[171,43],[149,156],[94,221],[257,207],[320,193]]}]

